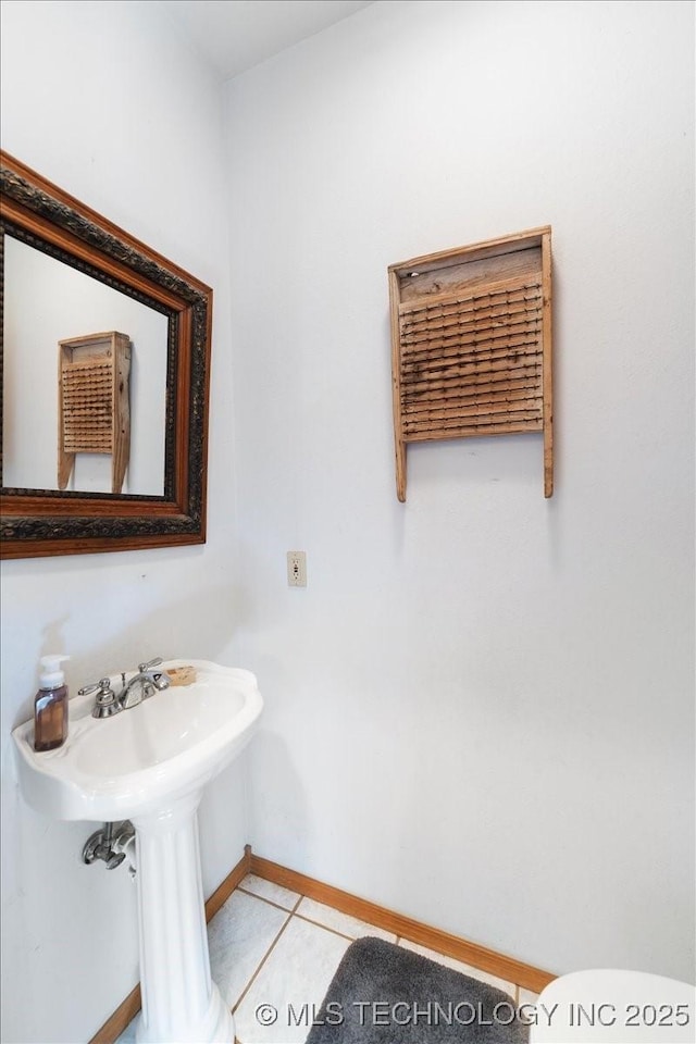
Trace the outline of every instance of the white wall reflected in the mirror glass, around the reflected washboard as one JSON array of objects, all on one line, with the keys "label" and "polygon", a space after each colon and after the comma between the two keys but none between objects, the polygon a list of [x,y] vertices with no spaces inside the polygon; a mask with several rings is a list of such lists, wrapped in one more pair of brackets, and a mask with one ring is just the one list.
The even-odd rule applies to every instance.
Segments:
[{"label": "white wall reflected in the mirror glass, around the reflected washboard", "polygon": [[[161,497],[167,318],[8,235],[3,325],[3,484],[59,488],[59,341],[127,331],[130,451],[122,493]],[[66,488],[109,494],[111,470],[108,453],[77,453]]]}]

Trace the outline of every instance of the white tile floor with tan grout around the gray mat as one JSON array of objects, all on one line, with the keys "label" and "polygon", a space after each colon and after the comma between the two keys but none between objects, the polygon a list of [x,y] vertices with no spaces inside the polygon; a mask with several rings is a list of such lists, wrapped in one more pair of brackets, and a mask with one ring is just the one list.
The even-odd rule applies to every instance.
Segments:
[{"label": "white tile floor with tan grout around the gray mat", "polygon": [[[248,874],[208,925],[213,979],[234,1012],[238,1044],[302,1044],[312,1005],[319,1010],[340,958],[362,935],[378,935],[490,983],[515,1004],[536,999],[515,983]],[[263,1026],[263,1014],[272,1010],[277,1020]],[[134,1042],[132,1022],[116,1044]]]}]

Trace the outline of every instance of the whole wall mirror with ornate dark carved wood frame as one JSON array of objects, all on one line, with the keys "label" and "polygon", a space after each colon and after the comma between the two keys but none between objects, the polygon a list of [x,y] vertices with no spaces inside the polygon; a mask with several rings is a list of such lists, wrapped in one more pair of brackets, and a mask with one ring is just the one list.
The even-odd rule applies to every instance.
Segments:
[{"label": "whole wall mirror with ornate dark carved wood frame", "polygon": [[[8,153],[0,163],[2,557],[204,543],[211,288]],[[96,343],[105,357],[71,349],[79,373],[66,375],[65,345]],[[99,369],[126,343],[127,387]],[[71,408],[85,451],[66,465]],[[98,431],[120,426],[120,440]]]}]

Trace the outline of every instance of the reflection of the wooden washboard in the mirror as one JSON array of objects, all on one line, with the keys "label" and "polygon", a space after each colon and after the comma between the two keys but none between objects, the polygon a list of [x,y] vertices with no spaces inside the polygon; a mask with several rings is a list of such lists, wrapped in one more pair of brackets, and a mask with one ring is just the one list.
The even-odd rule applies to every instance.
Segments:
[{"label": "reflection of the wooden washboard in the mirror", "polygon": [[111,492],[121,493],[130,453],[130,338],[110,331],[58,343],[58,487],[75,453],[111,453]]}]

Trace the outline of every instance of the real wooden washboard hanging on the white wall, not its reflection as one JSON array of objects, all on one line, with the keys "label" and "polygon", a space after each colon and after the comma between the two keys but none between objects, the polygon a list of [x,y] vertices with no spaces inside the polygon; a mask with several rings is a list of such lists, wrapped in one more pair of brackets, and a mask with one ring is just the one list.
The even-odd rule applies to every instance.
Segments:
[{"label": "real wooden washboard hanging on the white wall, not its reflection", "polygon": [[408,443],[544,433],[554,493],[550,226],[391,264],[396,486]]}]

